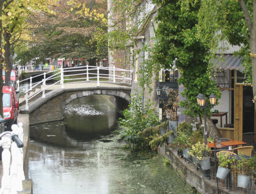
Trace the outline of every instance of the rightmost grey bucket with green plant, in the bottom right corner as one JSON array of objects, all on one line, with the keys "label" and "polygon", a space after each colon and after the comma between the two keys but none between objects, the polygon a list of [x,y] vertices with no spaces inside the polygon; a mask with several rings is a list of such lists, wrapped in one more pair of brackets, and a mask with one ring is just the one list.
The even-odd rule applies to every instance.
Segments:
[{"label": "rightmost grey bucket with green plant, in the bottom right corner", "polygon": [[235,168],[238,173],[237,176],[237,187],[246,189],[249,181],[251,180],[252,173],[255,170],[255,157],[254,158],[244,158],[241,156],[235,162],[233,168]]}]

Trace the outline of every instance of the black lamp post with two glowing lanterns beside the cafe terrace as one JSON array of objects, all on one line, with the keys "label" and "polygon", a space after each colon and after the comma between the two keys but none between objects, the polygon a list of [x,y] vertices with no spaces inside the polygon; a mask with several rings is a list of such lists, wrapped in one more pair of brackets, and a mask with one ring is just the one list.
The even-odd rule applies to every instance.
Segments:
[{"label": "black lamp post with two glowing lanterns beside the cafe terrace", "polygon": [[[205,147],[207,146],[207,120],[206,120],[206,107],[207,107],[207,100],[206,97],[204,96],[204,94],[199,93],[196,97],[197,99],[197,103],[198,105],[200,105],[201,107],[204,107],[204,144]],[[209,96],[210,99],[210,104],[213,106],[216,103],[216,95],[215,94],[211,94]]]}]

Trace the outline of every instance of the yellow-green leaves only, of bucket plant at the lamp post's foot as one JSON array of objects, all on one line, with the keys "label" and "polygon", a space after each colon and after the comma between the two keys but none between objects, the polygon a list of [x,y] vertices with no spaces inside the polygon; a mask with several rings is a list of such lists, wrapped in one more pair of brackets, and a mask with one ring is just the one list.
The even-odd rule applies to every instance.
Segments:
[{"label": "yellow-green leaves only, of bucket plant at the lamp post's foot", "polygon": [[196,157],[199,161],[204,161],[205,158],[208,156],[208,151],[210,148],[205,147],[205,144],[202,142],[197,142],[196,144],[192,145],[188,154],[192,157]]}]

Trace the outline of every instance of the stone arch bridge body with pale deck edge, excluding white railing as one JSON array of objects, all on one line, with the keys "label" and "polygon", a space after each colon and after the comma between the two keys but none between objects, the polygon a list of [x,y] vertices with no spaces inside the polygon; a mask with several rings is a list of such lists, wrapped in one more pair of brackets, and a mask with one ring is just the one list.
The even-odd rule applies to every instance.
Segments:
[{"label": "stone arch bridge body with pale deck edge, excluding white railing", "polygon": [[38,97],[30,102],[29,109],[20,107],[20,113],[29,113],[30,125],[63,120],[64,109],[69,102],[90,95],[112,95],[116,106],[128,105],[130,102],[130,86],[118,83],[105,83],[97,86],[95,83],[65,84],[65,88],[52,89],[44,98]]}]

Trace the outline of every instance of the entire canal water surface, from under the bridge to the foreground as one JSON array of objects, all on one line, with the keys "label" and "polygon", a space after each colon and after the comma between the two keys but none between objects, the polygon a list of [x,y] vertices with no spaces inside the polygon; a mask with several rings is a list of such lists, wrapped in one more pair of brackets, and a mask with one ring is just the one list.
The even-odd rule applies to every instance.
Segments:
[{"label": "entire canal water surface, from under the bridge to the foreground", "polygon": [[30,126],[33,193],[194,193],[162,156],[124,149],[118,117],[108,99],[93,96],[70,103],[62,122]]}]

